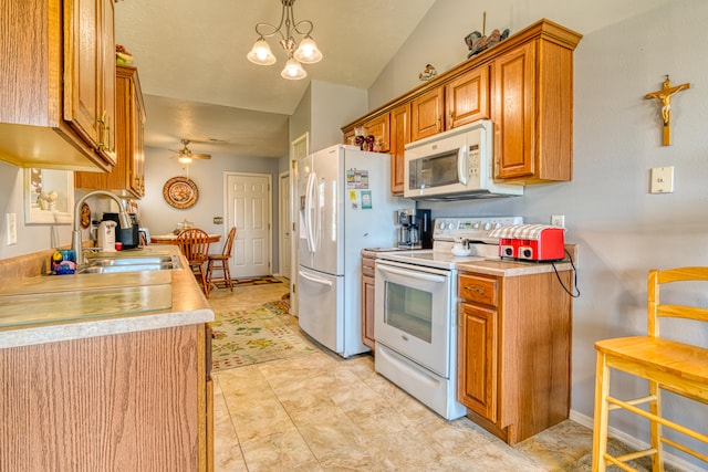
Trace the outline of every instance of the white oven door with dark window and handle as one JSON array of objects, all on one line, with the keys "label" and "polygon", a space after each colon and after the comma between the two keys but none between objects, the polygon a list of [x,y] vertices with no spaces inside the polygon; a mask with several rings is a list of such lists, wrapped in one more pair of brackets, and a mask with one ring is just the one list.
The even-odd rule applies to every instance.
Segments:
[{"label": "white oven door with dark window and handle", "polygon": [[451,272],[379,260],[374,293],[376,343],[449,378]]}]

